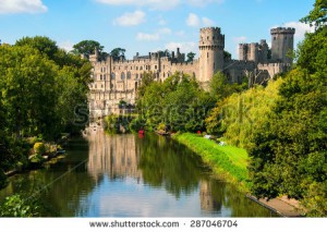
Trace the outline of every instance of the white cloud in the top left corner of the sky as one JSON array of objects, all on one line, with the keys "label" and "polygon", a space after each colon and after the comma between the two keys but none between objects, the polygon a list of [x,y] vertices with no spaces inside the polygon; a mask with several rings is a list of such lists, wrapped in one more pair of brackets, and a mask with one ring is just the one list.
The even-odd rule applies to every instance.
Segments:
[{"label": "white cloud in the top left corner of the sky", "polygon": [[44,13],[48,8],[41,0],[1,0],[0,14]]}]

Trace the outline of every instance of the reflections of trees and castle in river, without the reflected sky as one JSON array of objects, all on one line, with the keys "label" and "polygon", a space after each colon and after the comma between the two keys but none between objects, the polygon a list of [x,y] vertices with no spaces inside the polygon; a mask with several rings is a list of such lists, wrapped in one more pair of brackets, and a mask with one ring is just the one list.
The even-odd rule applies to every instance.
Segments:
[{"label": "reflections of trees and castle in river, without the reflected sky", "polygon": [[177,198],[199,187],[201,208],[209,213],[219,215],[228,208],[231,217],[270,216],[233,185],[210,179],[201,158],[174,141],[150,134],[138,138],[102,133],[88,139],[89,147],[85,141],[71,142],[68,157],[49,170],[13,176],[0,192],[0,200],[20,192],[33,196],[41,190],[40,200],[49,209],[45,216],[84,216],[89,211],[89,193],[105,175],[111,180],[132,176],[153,187],[165,187]]}]

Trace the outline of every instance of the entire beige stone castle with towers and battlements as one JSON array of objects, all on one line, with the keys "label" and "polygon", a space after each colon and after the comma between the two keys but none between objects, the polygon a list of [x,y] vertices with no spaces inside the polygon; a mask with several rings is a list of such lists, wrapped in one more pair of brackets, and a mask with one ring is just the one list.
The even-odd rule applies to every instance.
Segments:
[{"label": "entire beige stone castle with towers and battlements", "polygon": [[290,68],[292,59],[288,53],[293,51],[294,33],[294,28],[272,28],[270,50],[265,39],[241,44],[239,60],[225,56],[225,35],[219,27],[201,28],[199,58],[192,62],[185,62],[185,54],[179,48],[171,56],[160,52],[140,56],[137,52],[133,60],[120,61],[113,61],[111,57],[99,61],[99,54],[95,52],[89,56],[94,80],[88,96],[90,118],[123,113],[119,109],[121,100],[134,105],[145,72],[154,73],[156,80],[162,82],[178,71],[194,76],[203,86],[218,71],[225,73],[231,83],[241,82],[244,76],[253,83],[267,81]]}]

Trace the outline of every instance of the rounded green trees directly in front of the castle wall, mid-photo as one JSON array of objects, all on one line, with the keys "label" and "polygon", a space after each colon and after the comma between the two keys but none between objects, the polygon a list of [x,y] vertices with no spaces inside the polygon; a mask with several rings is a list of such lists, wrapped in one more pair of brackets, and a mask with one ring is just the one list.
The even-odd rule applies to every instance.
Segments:
[{"label": "rounded green trees directly in front of the castle wall, mid-photo", "polygon": [[177,131],[204,131],[204,119],[215,99],[189,75],[174,73],[164,83],[145,76],[137,93],[137,109],[148,127],[160,123]]}]

